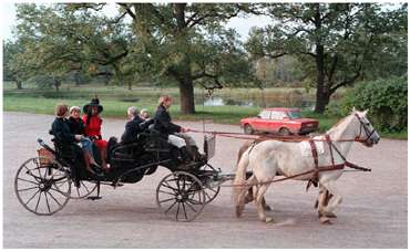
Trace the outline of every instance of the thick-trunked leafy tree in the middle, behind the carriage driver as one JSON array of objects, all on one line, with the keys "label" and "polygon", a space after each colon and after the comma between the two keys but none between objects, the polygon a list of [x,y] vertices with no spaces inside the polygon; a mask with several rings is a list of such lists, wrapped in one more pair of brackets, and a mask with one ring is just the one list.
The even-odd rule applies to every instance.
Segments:
[{"label": "thick-trunked leafy tree in the middle, behind the carriage driver", "polygon": [[[249,66],[243,60],[246,54],[240,51],[233,31],[222,27],[239,14],[239,4],[119,4],[122,7],[120,17],[132,18],[134,34],[141,39],[142,50],[156,69],[153,72],[171,76],[178,83],[184,114],[195,112],[195,83],[222,87],[225,81],[244,75],[235,76],[230,70]],[[218,40],[218,36],[224,39]]]}]

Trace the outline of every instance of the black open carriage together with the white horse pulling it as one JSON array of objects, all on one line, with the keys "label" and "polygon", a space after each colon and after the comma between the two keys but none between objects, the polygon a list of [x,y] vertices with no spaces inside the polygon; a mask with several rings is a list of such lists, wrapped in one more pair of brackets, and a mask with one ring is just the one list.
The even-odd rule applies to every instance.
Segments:
[{"label": "black open carriage together with the white horse pulling it", "polygon": [[[136,143],[120,144],[111,150],[109,161],[112,170],[102,177],[85,171],[82,158],[75,154],[78,146],[64,146],[54,140],[52,149],[39,139],[42,151],[51,156],[27,160],[17,172],[14,189],[19,201],[29,211],[53,215],[71,198],[98,199],[101,185],[116,187],[125,182],[137,182],[163,166],[172,174],[160,181],[156,202],[166,216],[177,221],[195,219],[204,206],[218,195],[222,184],[235,178],[230,187],[234,189],[237,216],[244,210],[246,191],[252,187],[256,188],[253,194],[256,195],[259,219],[269,222],[271,218],[266,216],[263,206],[268,186],[287,179],[299,179],[320,185],[317,199],[319,218],[321,222],[330,222],[328,217],[334,217],[332,210],[341,202],[335,182],[345,167],[370,170],[346,159],[352,143],[359,142],[371,147],[380,140],[379,134],[366,118],[366,113],[353,109],[325,135],[312,138],[255,139],[242,155],[240,161],[238,159],[236,174],[222,174],[208,164],[215,153],[215,132],[208,132],[212,136],[206,135],[204,138],[206,159],[188,165],[178,158],[178,150],[158,134],[143,133]],[[232,136],[234,133],[218,134]],[[319,146],[322,150],[318,150]],[[248,171],[250,165],[253,170]],[[277,175],[285,177],[274,179]],[[96,197],[89,197],[95,189]]]}]

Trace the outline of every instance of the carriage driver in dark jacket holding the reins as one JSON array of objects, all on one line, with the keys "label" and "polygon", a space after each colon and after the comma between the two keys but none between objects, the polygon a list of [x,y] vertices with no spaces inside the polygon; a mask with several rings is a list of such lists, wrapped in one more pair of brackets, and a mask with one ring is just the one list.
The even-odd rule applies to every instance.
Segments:
[{"label": "carriage driver in dark jacket holding the reins", "polygon": [[205,156],[201,155],[195,140],[187,135],[189,128],[182,127],[172,123],[170,115],[170,107],[172,105],[172,97],[170,95],[163,95],[158,100],[158,106],[156,108],[153,128],[157,130],[170,144],[176,146],[182,155],[183,161],[188,164],[191,161],[203,161]]}]

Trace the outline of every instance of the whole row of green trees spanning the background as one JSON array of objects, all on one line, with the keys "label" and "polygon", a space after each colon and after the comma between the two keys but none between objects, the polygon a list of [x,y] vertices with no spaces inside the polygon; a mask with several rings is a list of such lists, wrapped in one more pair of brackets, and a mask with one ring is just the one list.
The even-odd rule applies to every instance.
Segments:
[{"label": "whole row of green trees spanning the background", "polygon": [[[319,114],[338,90],[353,87],[342,107],[407,118],[403,104],[378,108],[387,100],[372,97],[407,95],[407,3],[116,3],[116,17],[104,8],[17,4],[14,39],[3,43],[4,80],[55,91],[64,82],[175,86],[182,114],[195,113],[194,86],[311,88]],[[225,24],[249,15],[270,23],[242,41]]]}]

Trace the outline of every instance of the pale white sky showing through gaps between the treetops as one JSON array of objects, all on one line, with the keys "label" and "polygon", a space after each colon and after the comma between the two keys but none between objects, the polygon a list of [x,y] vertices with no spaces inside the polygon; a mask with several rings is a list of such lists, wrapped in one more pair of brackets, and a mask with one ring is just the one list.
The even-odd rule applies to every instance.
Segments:
[{"label": "pale white sky showing through gaps between the treetops", "polygon": [[[0,29],[1,29],[1,39],[2,40],[11,40],[12,36],[12,28],[16,27],[17,18],[16,18],[16,7],[13,2],[2,2],[0,3]],[[109,7],[105,8],[107,15],[115,15],[116,7],[115,3],[109,3]],[[239,35],[240,40],[245,41],[248,36],[249,30],[253,27],[265,27],[269,23],[269,19],[266,17],[249,17],[249,18],[233,18],[226,24],[227,28],[235,29]]]}]

